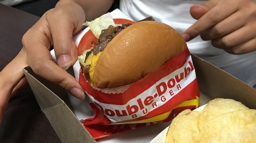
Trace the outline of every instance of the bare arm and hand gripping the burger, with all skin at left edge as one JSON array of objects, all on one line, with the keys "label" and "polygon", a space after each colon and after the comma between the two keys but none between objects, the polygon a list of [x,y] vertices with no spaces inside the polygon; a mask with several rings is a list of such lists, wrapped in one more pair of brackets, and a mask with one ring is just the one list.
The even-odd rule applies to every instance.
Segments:
[{"label": "bare arm and hand gripping the burger, with all skin at left edge", "polygon": [[[114,0],[60,0],[23,36],[20,53],[0,72],[0,123],[4,110],[18,89],[27,84],[22,68],[30,66],[39,76],[84,99],[83,88],[67,70],[77,60],[77,47],[72,40],[83,27],[106,13]],[[58,65],[52,61],[54,47]]]}]

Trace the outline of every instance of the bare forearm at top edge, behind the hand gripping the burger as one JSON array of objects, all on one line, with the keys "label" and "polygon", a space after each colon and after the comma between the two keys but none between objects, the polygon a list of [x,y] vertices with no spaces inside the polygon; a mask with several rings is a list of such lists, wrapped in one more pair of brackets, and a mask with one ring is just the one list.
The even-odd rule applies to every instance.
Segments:
[{"label": "bare forearm at top edge, behind the hand gripping the burger", "polygon": [[77,3],[84,9],[86,21],[92,21],[106,13],[113,2],[114,0],[60,0],[55,7],[68,3]]}]

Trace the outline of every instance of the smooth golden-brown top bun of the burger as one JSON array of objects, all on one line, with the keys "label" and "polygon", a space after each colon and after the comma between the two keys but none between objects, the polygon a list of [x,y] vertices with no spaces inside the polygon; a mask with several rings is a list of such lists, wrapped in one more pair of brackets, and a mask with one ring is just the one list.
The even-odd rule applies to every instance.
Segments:
[{"label": "smooth golden-brown top bun of the burger", "polygon": [[93,85],[112,88],[137,82],[185,48],[182,36],[167,24],[132,24],[107,44],[97,61]]}]

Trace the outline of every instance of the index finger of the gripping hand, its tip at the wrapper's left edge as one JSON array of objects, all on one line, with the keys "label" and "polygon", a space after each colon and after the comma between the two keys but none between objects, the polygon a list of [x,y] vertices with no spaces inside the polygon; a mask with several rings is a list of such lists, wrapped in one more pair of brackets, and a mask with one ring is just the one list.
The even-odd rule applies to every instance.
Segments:
[{"label": "index finger of the gripping hand, its tip at the wrapper's left edge", "polygon": [[41,25],[42,23],[35,24],[23,38],[24,47],[27,49],[28,65],[38,76],[63,87],[78,99],[85,99],[84,90],[76,79],[52,60],[48,49],[51,37],[47,37],[48,34],[45,34],[45,31],[37,30],[38,28],[47,29],[42,28]]}]

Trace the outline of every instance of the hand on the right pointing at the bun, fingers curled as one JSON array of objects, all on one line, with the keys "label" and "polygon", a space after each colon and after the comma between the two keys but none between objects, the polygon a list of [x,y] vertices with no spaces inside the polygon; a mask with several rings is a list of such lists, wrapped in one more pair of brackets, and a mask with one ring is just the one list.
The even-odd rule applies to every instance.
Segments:
[{"label": "hand on the right pointing at the bun, fingers curled", "polygon": [[209,0],[190,8],[198,20],[182,34],[186,41],[200,35],[230,54],[256,50],[256,2],[253,0]]}]

